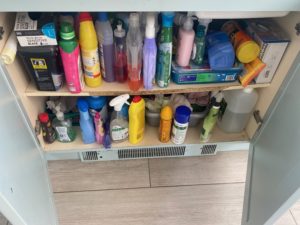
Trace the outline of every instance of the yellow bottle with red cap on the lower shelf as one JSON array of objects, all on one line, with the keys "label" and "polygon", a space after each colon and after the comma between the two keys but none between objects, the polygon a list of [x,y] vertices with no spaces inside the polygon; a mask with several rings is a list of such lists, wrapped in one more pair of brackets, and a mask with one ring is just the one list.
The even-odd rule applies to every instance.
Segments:
[{"label": "yellow bottle with red cap on the lower shelf", "polygon": [[139,143],[145,131],[145,101],[141,96],[134,96],[129,106],[129,142]]}]

